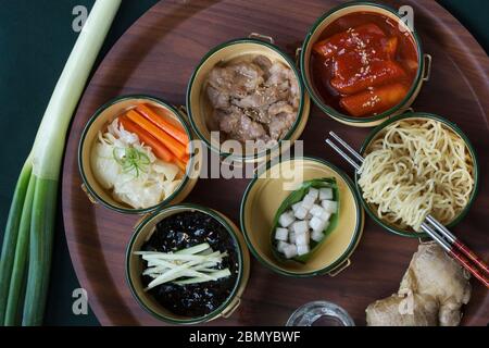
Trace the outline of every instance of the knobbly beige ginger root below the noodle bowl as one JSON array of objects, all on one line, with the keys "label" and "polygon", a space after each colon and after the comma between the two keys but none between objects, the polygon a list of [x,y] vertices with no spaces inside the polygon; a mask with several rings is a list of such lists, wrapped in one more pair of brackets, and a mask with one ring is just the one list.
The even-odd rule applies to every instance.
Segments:
[{"label": "knobbly beige ginger root below the noodle bowl", "polygon": [[399,290],[371,303],[369,326],[456,326],[471,299],[469,274],[435,243],[414,253]]}]

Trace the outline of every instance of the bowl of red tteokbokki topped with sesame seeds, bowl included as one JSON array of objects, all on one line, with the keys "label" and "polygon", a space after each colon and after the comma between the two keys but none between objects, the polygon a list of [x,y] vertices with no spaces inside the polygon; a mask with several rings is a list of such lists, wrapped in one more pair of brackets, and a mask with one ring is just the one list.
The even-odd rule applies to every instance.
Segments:
[{"label": "bowl of red tteokbokki topped with sesame seeds, bowl included", "polygon": [[316,105],[359,127],[408,110],[431,64],[408,24],[393,9],[369,2],[347,3],[321,16],[300,54],[302,78]]}]

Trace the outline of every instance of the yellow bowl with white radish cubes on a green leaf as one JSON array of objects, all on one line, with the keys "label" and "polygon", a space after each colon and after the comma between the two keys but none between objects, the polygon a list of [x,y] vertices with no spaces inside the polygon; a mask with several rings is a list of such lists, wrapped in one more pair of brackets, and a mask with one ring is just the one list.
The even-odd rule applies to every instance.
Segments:
[{"label": "yellow bowl with white radish cubes on a green leaf", "polygon": [[240,215],[253,256],[298,277],[335,275],[349,265],[364,220],[351,179],[316,158],[268,163],[249,184]]}]

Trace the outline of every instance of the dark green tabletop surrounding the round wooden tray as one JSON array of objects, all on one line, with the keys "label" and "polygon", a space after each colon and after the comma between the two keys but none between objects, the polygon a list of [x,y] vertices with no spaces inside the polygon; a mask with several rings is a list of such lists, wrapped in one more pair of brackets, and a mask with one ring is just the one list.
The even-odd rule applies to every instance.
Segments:
[{"label": "dark green tabletop surrounding the round wooden tray", "polygon": [[[431,0],[427,0],[431,1]],[[75,5],[91,8],[93,0],[0,0],[0,226],[5,225],[21,166],[76,40],[72,30]],[[158,0],[123,0],[100,59],[117,38]],[[439,1],[489,50],[489,1]],[[402,4],[402,1],[400,1]],[[59,204],[60,206],[60,204]],[[67,251],[61,217],[54,245],[46,324],[98,325],[93,313],[72,313],[72,291],[79,287]],[[3,229],[0,234],[2,238]]]}]

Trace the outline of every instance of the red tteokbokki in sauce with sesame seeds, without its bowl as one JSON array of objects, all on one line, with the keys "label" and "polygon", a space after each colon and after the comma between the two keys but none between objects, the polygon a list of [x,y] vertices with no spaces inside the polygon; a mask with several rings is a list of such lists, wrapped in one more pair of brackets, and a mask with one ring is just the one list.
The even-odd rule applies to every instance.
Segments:
[{"label": "red tteokbokki in sauce with sesame seeds, without its bowl", "polygon": [[378,13],[344,15],[322,33],[311,54],[316,92],[329,107],[373,116],[397,105],[418,69],[411,33]]}]

